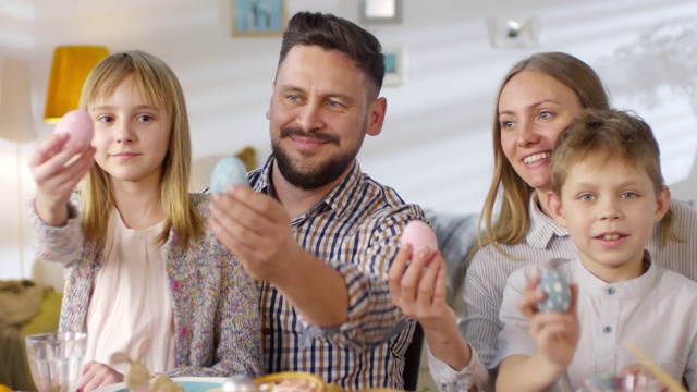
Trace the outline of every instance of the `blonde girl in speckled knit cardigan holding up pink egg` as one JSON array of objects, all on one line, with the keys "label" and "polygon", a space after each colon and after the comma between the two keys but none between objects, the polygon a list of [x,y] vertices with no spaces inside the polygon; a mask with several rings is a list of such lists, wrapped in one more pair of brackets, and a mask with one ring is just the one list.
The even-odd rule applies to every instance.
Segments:
[{"label": "blonde girl in speckled knit cardigan holding up pink egg", "polygon": [[91,146],[58,133],[29,162],[38,257],[66,272],[60,330],[88,335],[78,389],[121,381],[125,364],[111,355],[142,339],[150,372],[261,373],[255,282],[209,231],[210,196],[188,193],[191,135],[173,71],[143,51],[111,54],[81,108],[94,120]]}]

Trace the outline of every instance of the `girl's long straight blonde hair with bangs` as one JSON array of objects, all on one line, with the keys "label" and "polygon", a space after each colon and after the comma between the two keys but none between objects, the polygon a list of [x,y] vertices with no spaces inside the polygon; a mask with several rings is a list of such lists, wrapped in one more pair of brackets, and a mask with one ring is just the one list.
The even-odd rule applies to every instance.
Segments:
[{"label": "girl's long straight blonde hair with bangs", "polygon": [[[159,58],[140,50],[111,54],[99,62],[85,81],[80,107],[89,110],[95,102],[111,96],[130,75],[147,103],[163,110],[171,120],[172,132],[160,180],[160,200],[167,221],[158,242],[164,244],[173,229],[179,237],[176,245],[186,247],[191,238],[203,233],[204,220],[188,199],[192,160],[188,114],[174,72]],[[85,235],[89,241],[103,243],[109,213],[115,206],[109,174],[95,164],[83,180],[81,193]]]}]

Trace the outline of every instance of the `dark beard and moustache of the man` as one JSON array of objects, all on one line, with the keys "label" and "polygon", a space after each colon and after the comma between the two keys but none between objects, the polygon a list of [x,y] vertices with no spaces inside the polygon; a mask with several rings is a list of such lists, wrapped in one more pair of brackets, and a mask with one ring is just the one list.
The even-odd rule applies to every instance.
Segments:
[{"label": "dark beard and moustache of the man", "polygon": [[[304,132],[299,128],[290,127],[281,130],[280,138],[289,137],[291,135],[310,137],[320,142],[332,143],[337,146],[340,145],[339,138],[333,135],[325,135],[315,131]],[[359,149],[360,144],[358,144],[355,150],[345,151],[341,155],[331,157],[331,159],[321,162],[319,167],[303,168],[298,166],[297,162],[294,161],[279,144],[277,144],[276,139],[271,138],[271,150],[273,151],[281,175],[283,175],[285,181],[291,185],[305,191],[317,189],[337,181],[337,179],[339,179],[351,167],[351,164],[353,164]]]}]

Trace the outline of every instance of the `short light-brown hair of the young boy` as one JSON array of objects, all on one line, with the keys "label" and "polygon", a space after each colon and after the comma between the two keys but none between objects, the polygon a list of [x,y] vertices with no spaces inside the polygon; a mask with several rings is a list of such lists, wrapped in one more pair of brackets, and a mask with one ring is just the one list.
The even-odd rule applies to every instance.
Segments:
[{"label": "short light-brown hair of the young boy", "polygon": [[[571,169],[586,159],[644,170],[651,179],[657,196],[664,187],[658,142],[651,127],[633,112],[586,109],[562,132],[554,143],[550,167],[554,194],[561,196]],[[662,221],[670,226],[670,220],[672,215],[667,213]],[[662,243],[671,234],[662,230]]]}]

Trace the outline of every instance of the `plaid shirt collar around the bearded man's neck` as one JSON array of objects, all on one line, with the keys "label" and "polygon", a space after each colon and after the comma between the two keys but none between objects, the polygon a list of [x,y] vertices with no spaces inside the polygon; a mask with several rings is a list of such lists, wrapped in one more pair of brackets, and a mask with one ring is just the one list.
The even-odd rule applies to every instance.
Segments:
[{"label": "plaid shirt collar around the bearded man's neck", "polygon": [[[259,181],[255,182],[254,191],[265,193],[276,198],[276,192],[273,191],[273,184],[271,183],[271,170],[273,169],[274,157],[273,154],[269,156],[264,166],[259,169]],[[334,210],[340,217],[346,209],[353,204],[357,203],[359,197],[357,194],[363,188],[364,176],[360,171],[360,166],[357,160],[354,160],[353,167],[348,172],[348,175],[334,186],[319,203],[310,208],[305,215],[316,211],[321,206],[327,206]]]}]

